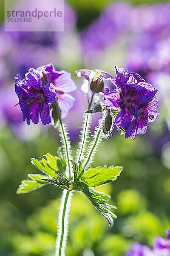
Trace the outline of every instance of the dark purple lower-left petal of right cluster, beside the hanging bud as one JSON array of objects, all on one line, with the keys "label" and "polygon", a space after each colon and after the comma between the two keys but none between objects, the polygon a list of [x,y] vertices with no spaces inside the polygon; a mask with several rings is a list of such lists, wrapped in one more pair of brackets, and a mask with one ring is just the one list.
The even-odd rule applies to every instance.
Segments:
[{"label": "dark purple lower-left petal of right cluster, beside the hanging bud", "polygon": [[127,124],[131,122],[133,118],[132,113],[128,110],[127,106],[121,109],[115,118],[116,125],[125,129]]}]

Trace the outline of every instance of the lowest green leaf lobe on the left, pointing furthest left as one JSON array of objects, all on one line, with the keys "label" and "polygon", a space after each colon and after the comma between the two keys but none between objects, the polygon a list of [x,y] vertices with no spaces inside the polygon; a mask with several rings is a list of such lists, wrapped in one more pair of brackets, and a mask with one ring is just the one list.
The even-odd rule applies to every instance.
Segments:
[{"label": "lowest green leaf lobe on the left, pointing furthest left", "polygon": [[22,180],[17,189],[17,194],[26,194],[32,190],[40,188],[47,184],[47,182],[43,179],[48,178],[48,176],[40,175],[40,174],[28,174],[28,178],[31,180]]}]

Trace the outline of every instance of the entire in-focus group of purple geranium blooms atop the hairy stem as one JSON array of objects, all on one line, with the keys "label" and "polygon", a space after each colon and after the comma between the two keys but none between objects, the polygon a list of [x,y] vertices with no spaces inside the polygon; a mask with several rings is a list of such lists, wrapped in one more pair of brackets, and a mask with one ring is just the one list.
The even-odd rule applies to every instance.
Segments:
[{"label": "entire in-focus group of purple geranium blooms atop the hairy stem", "polygon": [[[102,70],[81,69],[75,73],[85,78],[82,89],[88,94],[88,100],[91,97],[87,113],[108,110],[112,126],[110,110],[116,109],[115,124],[125,130],[125,138],[132,136],[134,139],[136,134],[144,134],[148,122],[155,121],[159,115],[158,101],[155,100],[157,90],[137,73],[128,73],[118,67],[115,67],[115,72],[117,77]],[[26,119],[28,124],[30,119],[37,124],[39,118],[44,125],[50,123],[50,107],[54,108],[55,104],[59,106],[61,118],[65,118],[74,105],[74,97],[68,94],[76,89],[71,74],[64,70],[56,71],[53,64],[38,67],[37,70],[29,69],[23,80],[19,74],[14,79],[23,120]],[[90,111],[96,94],[102,94],[105,105],[97,111],[94,106]],[[52,113],[55,123],[54,111]],[[108,134],[111,128],[105,130]]]}]

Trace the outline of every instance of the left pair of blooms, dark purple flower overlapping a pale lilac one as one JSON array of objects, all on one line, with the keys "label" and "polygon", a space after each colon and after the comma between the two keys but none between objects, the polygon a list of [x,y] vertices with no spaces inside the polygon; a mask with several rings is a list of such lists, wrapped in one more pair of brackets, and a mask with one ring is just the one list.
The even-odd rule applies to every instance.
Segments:
[{"label": "left pair of blooms, dark purple flower overlapping a pale lilac one", "polygon": [[74,105],[75,99],[67,94],[76,89],[71,74],[63,70],[56,71],[52,64],[38,67],[37,70],[31,68],[23,80],[20,74],[14,80],[23,121],[26,120],[28,125],[30,120],[37,124],[39,119],[43,125],[51,123],[50,106],[55,99],[62,118],[67,116]]}]

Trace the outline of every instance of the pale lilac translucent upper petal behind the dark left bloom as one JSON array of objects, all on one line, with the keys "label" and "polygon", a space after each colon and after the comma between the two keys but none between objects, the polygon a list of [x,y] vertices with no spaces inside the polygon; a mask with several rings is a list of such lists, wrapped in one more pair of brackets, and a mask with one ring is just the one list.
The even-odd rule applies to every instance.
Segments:
[{"label": "pale lilac translucent upper petal behind the dark left bloom", "polygon": [[71,79],[71,74],[62,71],[63,73],[54,81],[56,90],[61,91],[63,93],[70,93],[76,90],[77,86],[74,83],[73,79]]}]

